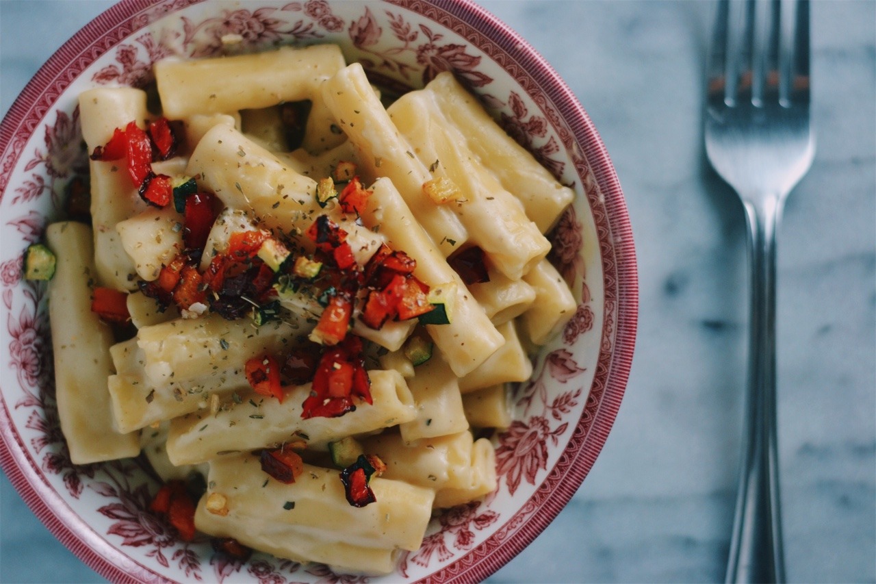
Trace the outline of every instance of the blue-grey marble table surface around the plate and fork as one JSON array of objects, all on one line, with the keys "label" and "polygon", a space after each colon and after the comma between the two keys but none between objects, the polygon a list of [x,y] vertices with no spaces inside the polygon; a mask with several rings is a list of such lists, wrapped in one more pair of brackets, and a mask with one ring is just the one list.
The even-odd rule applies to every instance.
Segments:
[{"label": "blue-grey marble table surface around the plate and fork", "polygon": [[[0,111],[107,2],[0,0]],[[486,0],[556,68],[617,167],[639,336],[617,423],[569,506],[491,582],[717,581],[736,495],[747,285],[741,205],[703,154],[709,2]],[[779,231],[788,580],[876,580],[876,4],[812,6],[815,163]],[[0,480],[0,581],[96,573]]]}]

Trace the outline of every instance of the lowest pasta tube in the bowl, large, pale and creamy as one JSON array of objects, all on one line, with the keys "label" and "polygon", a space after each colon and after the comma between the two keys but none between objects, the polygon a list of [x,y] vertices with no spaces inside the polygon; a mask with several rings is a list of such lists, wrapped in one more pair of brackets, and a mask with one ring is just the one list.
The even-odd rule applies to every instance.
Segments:
[{"label": "lowest pasta tube in the bowl, large, pale and creamy", "polygon": [[[389,573],[394,552],[420,547],[434,492],[402,481],[372,479],[376,502],[351,507],[338,472],[305,465],[292,484],[270,479],[258,458],[238,454],[210,462],[207,494],[195,512],[197,528],[233,537],[280,558],[317,561],[344,572]],[[224,514],[207,509],[222,495]]]}]

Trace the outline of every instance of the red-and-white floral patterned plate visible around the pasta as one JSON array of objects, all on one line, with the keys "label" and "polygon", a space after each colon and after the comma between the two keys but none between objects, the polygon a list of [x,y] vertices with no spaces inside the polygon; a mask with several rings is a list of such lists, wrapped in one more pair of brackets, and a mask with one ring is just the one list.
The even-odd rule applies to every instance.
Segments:
[{"label": "red-and-white floral patterned plate visible around the pasta", "polygon": [[[158,488],[126,459],[74,466],[60,434],[45,288],[21,279],[22,253],[60,216],[67,183],[87,168],[77,96],[143,86],[171,54],[335,42],[393,89],[452,70],[505,129],[563,183],[574,205],[551,233],[551,259],[572,282],[575,317],[514,394],[514,422],[494,437],[499,486],[434,518],[417,552],[384,578],[265,554],[245,563],[207,541],[182,542],[148,510]],[[0,126],[0,463],[53,533],[109,580],[482,580],[560,512],[601,450],[632,360],[638,284],[632,235],[611,160],[564,82],[523,39],[464,0],[249,3],[124,2],[78,32],[39,70]]]}]

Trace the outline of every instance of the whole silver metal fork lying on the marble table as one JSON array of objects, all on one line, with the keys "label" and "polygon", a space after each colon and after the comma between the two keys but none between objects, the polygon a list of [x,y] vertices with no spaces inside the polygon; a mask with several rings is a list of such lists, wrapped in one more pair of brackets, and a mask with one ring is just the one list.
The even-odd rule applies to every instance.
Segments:
[{"label": "whole silver metal fork lying on the marble table", "polygon": [[776,446],[775,234],[809,170],[809,1],[719,0],[708,61],[706,153],[748,222],[751,331],[728,582],[785,578]]}]

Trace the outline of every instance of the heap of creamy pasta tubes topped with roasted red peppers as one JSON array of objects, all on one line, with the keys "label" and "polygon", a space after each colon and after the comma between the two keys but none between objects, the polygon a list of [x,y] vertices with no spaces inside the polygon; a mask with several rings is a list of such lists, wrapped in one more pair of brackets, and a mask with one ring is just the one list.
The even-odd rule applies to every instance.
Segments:
[{"label": "heap of creamy pasta tubes topped with roasted red peppers", "polygon": [[572,191],[451,75],[387,109],[337,46],[154,73],[159,116],[81,95],[94,229],[46,232],[71,457],[144,452],[180,538],[390,573],[497,486],[476,437],[576,310],[543,235]]}]

